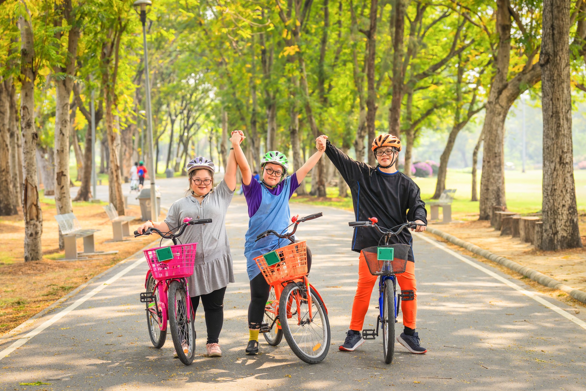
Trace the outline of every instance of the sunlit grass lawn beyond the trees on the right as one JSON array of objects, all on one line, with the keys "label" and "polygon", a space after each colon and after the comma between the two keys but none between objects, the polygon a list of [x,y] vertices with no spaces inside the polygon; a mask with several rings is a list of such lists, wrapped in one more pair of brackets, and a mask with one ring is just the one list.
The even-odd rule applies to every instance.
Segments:
[{"label": "sunlit grass lawn beyond the trees on the right", "polygon": [[[541,170],[505,172],[507,208],[513,212],[532,213],[541,210]],[[481,173],[478,173],[480,180]],[[421,188],[421,198],[428,202],[435,191],[436,178],[413,178]],[[578,210],[586,212],[586,170],[574,171]],[[452,205],[452,215],[458,219],[473,219],[478,216],[478,202],[470,200],[472,174],[463,170],[448,170],[446,187],[457,189]],[[480,194],[480,189],[478,190]],[[328,199],[295,196],[298,202],[314,205],[333,206],[353,210],[351,198],[338,198],[338,188],[328,188]]]}]

